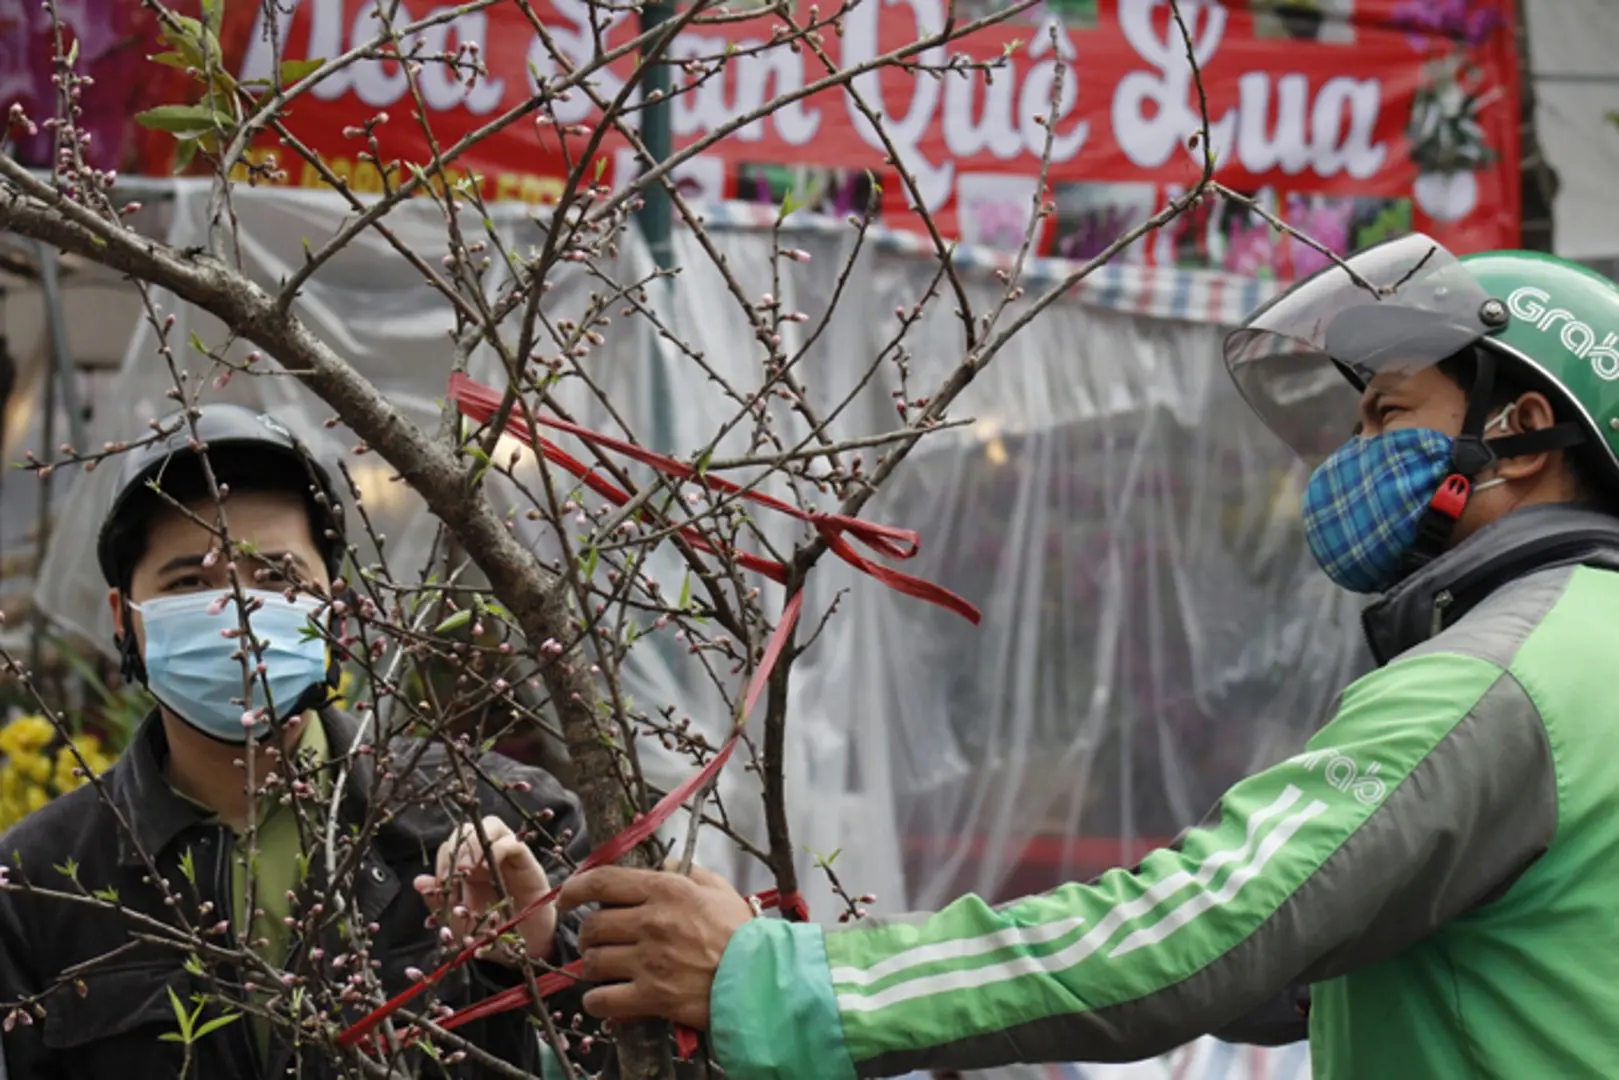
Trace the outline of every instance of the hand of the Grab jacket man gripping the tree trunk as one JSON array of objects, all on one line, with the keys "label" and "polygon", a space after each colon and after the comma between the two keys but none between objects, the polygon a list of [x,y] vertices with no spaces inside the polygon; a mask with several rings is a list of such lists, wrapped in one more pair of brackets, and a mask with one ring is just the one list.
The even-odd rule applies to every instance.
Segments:
[{"label": "hand of the Grab jacket man gripping the tree trunk", "polygon": [[698,1031],[709,1025],[709,989],[737,928],[753,907],[719,874],[691,876],[602,866],[576,874],[559,910],[602,908],[584,918],[584,978],[607,983],[584,994],[584,1010],[604,1020],[662,1017]]}]

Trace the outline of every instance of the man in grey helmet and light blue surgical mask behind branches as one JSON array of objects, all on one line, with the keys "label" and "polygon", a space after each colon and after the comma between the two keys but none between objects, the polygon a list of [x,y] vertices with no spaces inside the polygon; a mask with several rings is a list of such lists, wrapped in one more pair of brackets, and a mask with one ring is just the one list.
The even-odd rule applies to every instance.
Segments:
[{"label": "man in grey helmet and light blue surgical mask behind branches", "polygon": [[[189,1059],[191,1075],[225,1080],[340,1075],[293,1025],[363,1015],[366,999],[342,993],[356,968],[387,994],[437,968],[491,913],[495,874],[510,895],[544,892],[588,850],[578,803],[550,774],[484,755],[465,800],[484,852],[465,821],[473,811],[458,821],[445,810],[458,800],[444,790],[453,771],[442,743],[382,745],[332,708],[340,497],[283,424],[206,405],[159,421],[120,465],[97,554],[125,675],[157,708],[100,792],[70,792],[0,837],[13,886],[0,892],[6,1070],[175,1077]],[[251,669],[240,651],[249,640]],[[374,805],[387,776],[398,784]],[[334,805],[340,840],[329,852]],[[180,941],[201,933],[223,955],[188,960],[175,938],[160,944],[154,921]],[[539,963],[576,954],[555,908],[516,929],[510,946],[445,976],[437,1002],[461,1007],[515,984],[516,947]],[[173,1041],[173,1001],[186,1012],[206,1002],[201,1030],[228,1015],[222,999],[246,1015],[189,1048]],[[476,1052],[434,1075],[499,1075],[489,1057],[541,1069],[523,1012],[457,1035]]]}]

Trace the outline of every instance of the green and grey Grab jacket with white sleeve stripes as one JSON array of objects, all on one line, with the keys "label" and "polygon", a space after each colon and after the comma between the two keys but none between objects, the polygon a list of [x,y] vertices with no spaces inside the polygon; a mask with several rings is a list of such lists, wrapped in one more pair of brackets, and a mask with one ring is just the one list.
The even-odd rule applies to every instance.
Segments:
[{"label": "green and grey Grab jacket with white sleeve stripes", "polygon": [[[1133,870],[725,950],[730,1080],[1130,1061],[1310,983],[1316,1080],[1619,1072],[1619,520],[1502,518],[1366,612],[1303,753]],[[1392,657],[1392,659],[1391,659]]]}]

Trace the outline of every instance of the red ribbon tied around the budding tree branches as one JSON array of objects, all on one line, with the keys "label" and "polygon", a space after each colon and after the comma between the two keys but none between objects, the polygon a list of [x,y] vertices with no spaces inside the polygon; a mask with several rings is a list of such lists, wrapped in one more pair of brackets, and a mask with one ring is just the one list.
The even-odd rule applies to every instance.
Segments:
[{"label": "red ribbon tied around the budding tree branches", "polygon": [[[478,423],[487,423],[495,416],[500,408],[502,393],[492,387],[486,387],[479,382],[468,379],[461,372],[450,376],[450,400],[457,403],[460,411]],[[708,489],[719,491],[724,494],[738,495],[748,502],[779,510],[793,518],[810,523],[819,536],[827,542],[827,549],[837,554],[843,562],[871,575],[877,581],[882,581],[889,588],[903,593],[907,596],[915,596],[924,599],[939,607],[957,612],[958,615],[968,619],[976,625],[979,622],[979,612],[976,607],[968,604],[960,596],[941,588],[931,581],[915,578],[899,570],[892,570],[881,563],[871,562],[865,555],[855,551],[850,544],[850,538],[865,544],[866,547],[889,557],[889,559],[911,559],[920,551],[920,542],[916,533],[910,529],[899,529],[889,525],[874,525],[871,521],[861,521],[860,518],[852,518],[839,513],[811,513],[793,507],[792,504],[782,502],[763,492],[745,491],[738,484],[733,484],[719,476],[709,476],[699,473],[695,466],[685,461],[677,461],[675,458],[652,453],[644,447],[638,447],[631,442],[622,439],[614,439],[612,436],[604,436],[588,427],[580,427],[578,424],[550,418],[536,416],[536,423],[546,427],[554,427],[557,431],[565,431],[591,445],[602,447],[604,450],[612,450],[622,457],[648,465],[665,476],[675,479],[691,481],[701,484]],[[609,502],[623,507],[630,502],[630,495],[617,487],[614,483],[596,473],[591,466],[584,465],[567,450],[560,449],[546,437],[536,437],[529,431],[528,424],[516,415],[513,415],[507,424],[507,431],[512,437],[520,442],[539,450],[547,461],[562,466],[580,481],[584,483],[591,491],[602,495]],[[680,536],[686,539],[698,551],[724,555],[737,560],[740,565],[766,575],[772,581],[787,580],[787,567],[782,563],[761,559],[758,555],[742,552],[742,551],[722,551],[708,538],[701,536],[696,529],[686,526],[678,529]],[[596,866],[606,866],[609,863],[617,863],[620,858],[628,855],[636,845],[648,840],[674,813],[686,803],[698,790],[708,785],[725,763],[730,759],[732,751],[737,748],[737,740],[742,733],[742,725],[746,722],[748,716],[753,712],[753,706],[758,703],[759,695],[769,683],[771,672],[776,669],[776,662],[780,659],[782,651],[787,648],[787,641],[792,636],[793,627],[798,622],[798,615],[803,610],[803,591],[795,591],[782,609],[782,619],[771,635],[766,644],[764,656],[759,659],[759,667],[753,672],[753,680],[748,685],[746,698],[743,699],[742,712],[737,717],[737,725],[732,729],[730,737],[719,748],[719,751],[709,758],[696,776],[690,777],[672,792],[657,800],[648,813],[635,819],[623,832],[609,839],[606,844],[591,852],[575,870],[575,873],[583,873]],[[508,933],[531,913],[538,912],[541,907],[554,902],[557,894],[562,892],[562,886],[552,887],[546,895],[528,904],[521,912],[512,915],[508,920],[487,931],[479,941],[465,947],[460,954],[447,960],[439,970],[424,976],[419,983],[410,989],[397,994],[387,1004],[368,1014],[358,1023],[345,1030],[338,1036],[338,1044],[343,1048],[358,1046],[366,1040],[384,1020],[398,1012],[403,1006],[421,994],[427,986],[439,983],[445,975],[470,962],[478,955],[478,950],[484,946],[494,942],[500,934]],[[779,907],[784,915],[795,921],[805,921],[810,918],[810,907],[798,892],[787,895],[777,894],[774,889],[761,892],[754,900],[761,908]],[[565,989],[567,986],[576,983],[581,978],[581,963],[575,960],[573,963],[559,968],[557,972],[549,972],[534,980],[534,988],[539,991],[539,997],[549,997],[550,994]],[[489,997],[460,1009],[437,1022],[437,1027],[444,1030],[458,1028],[463,1023],[471,1023],[481,1017],[505,1012],[508,1009],[518,1009],[529,1002],[528,986],[513,986],[504,989],[499,994],[491,994]],[[402,1036],[402,1043],[411,1041],[414,1033],[406,1031]],[[682,1057],[690,1057],[696,1051],[696,1036],[686,1028],[675,1028],[675,1041]]]}]

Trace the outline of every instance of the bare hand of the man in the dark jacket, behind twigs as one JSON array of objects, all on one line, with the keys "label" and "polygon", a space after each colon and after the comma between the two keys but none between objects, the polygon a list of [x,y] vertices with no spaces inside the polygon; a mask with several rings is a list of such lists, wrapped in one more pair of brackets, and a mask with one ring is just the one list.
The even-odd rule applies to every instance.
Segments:
[{"label": "bare hand of the man in the dark jacket, behind twigs", "polygon": [[[484,818],[482,827],[492,860],[486,857],[478,831],[471,823],[465,823],[439,845],[437,873],[418,874],[413,882],[416,892],[439,913],[457,941],[487,933],[550,891],[546,868],[507,823],[489,816]],[[491,912],[500,900],[489,870],[491,861],[500,874],[505,894],[512,899],[510,908]],[[442,910],[445,905],[448,905],[447,913]],[[552,960],[557,952],[557,905],[547,904],[533,912],[515,929],[521,934],[529,959]],[[505,965],[518,962],[513,950],[505,946],[486,947],[478,955]]]}]

